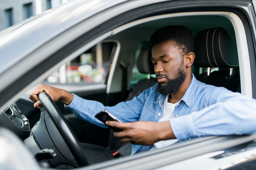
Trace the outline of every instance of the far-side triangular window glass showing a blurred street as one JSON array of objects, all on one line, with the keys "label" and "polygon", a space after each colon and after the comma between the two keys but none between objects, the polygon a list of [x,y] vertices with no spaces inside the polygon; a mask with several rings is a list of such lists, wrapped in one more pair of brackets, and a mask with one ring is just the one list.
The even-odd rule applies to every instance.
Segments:
[{"label": "far-side triangular window glass showing a blurred street", "polygon": [[110,60],[117,43],[102,42],[49,75],[50,84],[101,84],[106,82]]}]

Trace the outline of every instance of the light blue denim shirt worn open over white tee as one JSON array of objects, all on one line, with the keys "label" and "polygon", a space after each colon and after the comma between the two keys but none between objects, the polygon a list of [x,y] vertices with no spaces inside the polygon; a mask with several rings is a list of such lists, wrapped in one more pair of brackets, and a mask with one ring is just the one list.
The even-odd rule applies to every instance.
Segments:
[{"label": "light blue denim shirt worn open over white tee", "polygon": [[[107,127],[94,115],[108,110],[122,122],[154,121],[162,117],[165,95],[157,91],[157,84],[139,96],[116,106],[74,95],[65,106],[79,118],[101,127]],[[242,135],[256,133],[256,100],[233,93],[226,88],[204,84],[194,75],[189,88],[174,109],[171,128],[179,141],[209,135]],[[132,154],[149,150],[152,146],[132,145]]]}]

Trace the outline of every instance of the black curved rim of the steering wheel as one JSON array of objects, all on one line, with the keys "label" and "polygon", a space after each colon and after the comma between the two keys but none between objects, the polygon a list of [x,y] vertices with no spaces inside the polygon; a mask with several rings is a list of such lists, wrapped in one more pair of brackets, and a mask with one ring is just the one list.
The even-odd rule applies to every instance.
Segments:
[{"label": "black curved rim of the steering wheel", "polygon": [[38,99],[45,107],[52,121],[54,122],[56,128],[60,132],[64,141],[66,142],[68,148],[72,152],[76,162],[79,166],[88,166],[90,165],[90,161],[86,156],[83,148],[79,144],[78,139],[74,135],[74,132],[71,130],[70,126],[65,121],[65,118],[61,114],[61,111],[56,106],[56,104],[52,101],[51,97],[45,92],[41,92],[38,94]]}]

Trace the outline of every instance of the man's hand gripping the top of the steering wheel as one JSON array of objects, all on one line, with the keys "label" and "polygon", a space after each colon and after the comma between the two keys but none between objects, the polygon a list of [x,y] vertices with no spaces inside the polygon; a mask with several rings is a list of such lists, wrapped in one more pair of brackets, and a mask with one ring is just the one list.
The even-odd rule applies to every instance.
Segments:
[{"label": "man's hand gripping the top of the steering wheel", "polygon": [[74,97],[71,93],[68,93],[63,89],[55,88],[46,84],[38,84],[34,91],[29,95],[29,99],[34,102],[34,107],[40,108],[40,106],[42,106],[37,96],[42,91],[45,91],[54,102],[61,100],[66,105],[69,105]]}]

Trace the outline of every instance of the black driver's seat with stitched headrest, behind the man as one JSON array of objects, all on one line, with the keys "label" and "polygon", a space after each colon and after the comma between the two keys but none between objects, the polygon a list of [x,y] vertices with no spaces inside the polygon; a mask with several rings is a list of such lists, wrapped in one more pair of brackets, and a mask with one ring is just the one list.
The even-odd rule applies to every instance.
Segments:
[{"label": "black driver's seat with stitched headrest, behind the man", "polygon": [[[195,61],[198,68],[208,68],[207,73],[195,75],[206,84],[222,86],[240,92],[238,53],[234,42],[225,29],[217,27],[200,31],[195,35]],[[210,68],[219,71],[210,73]]]}]

